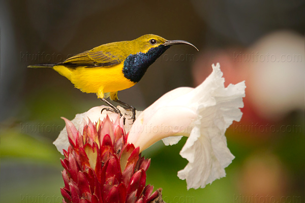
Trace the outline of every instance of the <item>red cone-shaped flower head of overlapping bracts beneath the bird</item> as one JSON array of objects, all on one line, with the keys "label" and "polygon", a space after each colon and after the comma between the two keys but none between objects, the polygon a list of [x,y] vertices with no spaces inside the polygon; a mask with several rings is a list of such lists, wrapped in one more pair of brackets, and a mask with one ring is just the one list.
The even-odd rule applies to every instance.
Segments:
[{"label": "red cone-shaped flower head of overlapping bracts beneath the bird", "polygon": [[161,189],[151,194],[154,187],[145,186],[150,159],[127,143],[119,118],[112,122],[107,116],[97,124],[89,121],[82,133],[64,120],[70,143],[68,151],[63,150],[65,159],[60,160],[64,203],[159,202]]}]

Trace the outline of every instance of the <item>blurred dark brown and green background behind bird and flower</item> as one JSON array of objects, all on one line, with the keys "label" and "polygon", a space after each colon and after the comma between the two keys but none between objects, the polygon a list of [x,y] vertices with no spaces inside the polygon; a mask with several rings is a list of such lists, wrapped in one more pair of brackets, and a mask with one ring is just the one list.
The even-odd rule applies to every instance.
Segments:
[{"label": "blurred dark brown and green background behind bird and flower", "polygon": [[64,185],[52,142],[101,102],[49,69],[101,44],[154,33],[188,46],[169,49],[119,98],[143,110],[180,86],[195,87],[220,62],[226,85],[246,80],[241,122],[226,132],[235,155],[227,176],[187,190],[177,172],[186,139],[162,142],[147,183],[166,202],[304,202],[303,1],[1,1],[1,202],[62,202]]}]

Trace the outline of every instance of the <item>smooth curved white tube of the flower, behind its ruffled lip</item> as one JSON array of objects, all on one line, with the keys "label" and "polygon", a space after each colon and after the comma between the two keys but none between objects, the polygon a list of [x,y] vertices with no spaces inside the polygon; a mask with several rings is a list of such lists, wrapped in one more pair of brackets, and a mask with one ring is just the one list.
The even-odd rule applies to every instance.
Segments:
[{"label": "smooth curved white tube of the flower, behind its ruffled lip", "polygon": [[192,109],[183,106],[160,107],[155,112],[144,110],[131,127],[128,142],[143,151],[163,138],[188,135],[196,117]]}]

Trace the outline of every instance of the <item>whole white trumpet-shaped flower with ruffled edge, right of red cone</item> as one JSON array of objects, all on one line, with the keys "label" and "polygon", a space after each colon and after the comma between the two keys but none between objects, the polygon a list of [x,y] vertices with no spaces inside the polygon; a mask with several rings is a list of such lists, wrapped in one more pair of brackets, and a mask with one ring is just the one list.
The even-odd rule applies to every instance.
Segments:
[{"label": "whole white trumpet-shaped flower with ruffled edge, right of red cone", "polygon": [[198,87],[177,88],[163,95],[138,116],[129,131],[128,142],[140,151],[161,139],[172,145],[181,136],[189,137],[180,151],[189,163],[178,172],[188,189],[203,188],[224,177],[224,168],[234,159],[225,131],[241,118],[246,86],[240,82],[225,88],[219,63],[212,69]]}]

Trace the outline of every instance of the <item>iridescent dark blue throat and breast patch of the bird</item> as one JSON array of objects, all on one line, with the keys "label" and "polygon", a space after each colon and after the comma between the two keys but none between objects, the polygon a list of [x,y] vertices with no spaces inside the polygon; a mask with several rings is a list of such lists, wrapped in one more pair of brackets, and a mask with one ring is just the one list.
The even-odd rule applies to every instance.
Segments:
[{"label": "iridescent dark blue throat and breast patch of the bird", "polygon": [[169,47],[160,45],[149,49],[147,53],[130,54],[124,61],[124,76],[132,82],[139,82],[149,65],[153,64]]}]

